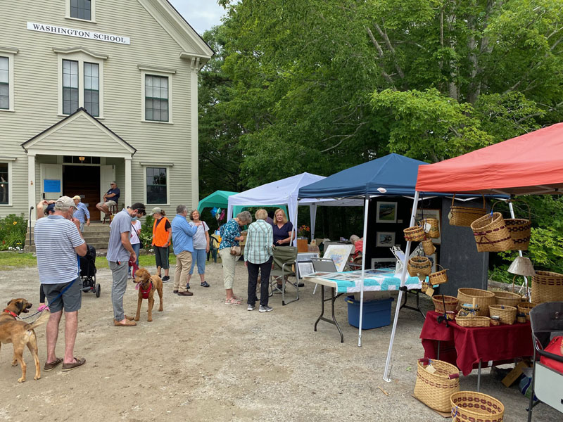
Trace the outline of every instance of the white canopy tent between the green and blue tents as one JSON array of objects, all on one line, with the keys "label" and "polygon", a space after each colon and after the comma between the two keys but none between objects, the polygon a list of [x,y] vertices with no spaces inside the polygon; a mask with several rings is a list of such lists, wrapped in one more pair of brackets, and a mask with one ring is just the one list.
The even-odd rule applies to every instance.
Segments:
[{"label": "white canopy tent between the green and blue tents", "polygon": [[[236,195],[229,196],[227,207],[227,221],[233,217],[233,207],[235,205],[246,206],[268,206],[287,204],[289,212],[289,221],[293,224],[293,228],[297,227],[297,214],[298,205],[309,205],[310,218],[311,218],[311,238],[315,238],[315,219],[317,215],[317,205],[322,206],[350,206],[361,207],[363,204],[362,199],[334,199],[334,198],[303,198],[298,200],[299,188],[308,186],[325,179],[324,176],[317,176],[317,174],[301,173],[296,176],[286,177],[278,181],[257,186],[248,191],[236,193]],[[293,240],[296,244],[296,240]]]}]

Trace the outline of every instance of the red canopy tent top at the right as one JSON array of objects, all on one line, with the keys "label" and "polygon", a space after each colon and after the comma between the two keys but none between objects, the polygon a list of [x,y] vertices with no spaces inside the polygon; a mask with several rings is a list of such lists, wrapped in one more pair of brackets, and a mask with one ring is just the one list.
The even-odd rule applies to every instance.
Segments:
[{"label": "red canopy tent top at the right", "polygon": [[563,123],[419,167],[419,192],[562,193]]}]

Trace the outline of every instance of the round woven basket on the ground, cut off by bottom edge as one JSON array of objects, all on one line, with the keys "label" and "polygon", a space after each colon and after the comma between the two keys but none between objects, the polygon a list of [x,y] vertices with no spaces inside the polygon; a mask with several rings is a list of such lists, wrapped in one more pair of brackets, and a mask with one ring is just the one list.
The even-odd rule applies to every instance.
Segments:
[{"label": "round woven basket on the ground, cut off by bottom edge", "polygon": [[502,403],[482,392],[454,392],[450,402],[452,422],[502,422],[505,415]]}]

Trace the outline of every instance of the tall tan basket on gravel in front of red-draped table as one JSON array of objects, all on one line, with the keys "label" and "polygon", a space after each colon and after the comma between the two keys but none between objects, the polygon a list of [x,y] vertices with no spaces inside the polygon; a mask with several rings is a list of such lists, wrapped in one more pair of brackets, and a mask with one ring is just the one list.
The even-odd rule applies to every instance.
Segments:
[{"label": "tall tan basket on gravel in front of red-draped table", "polygon": [[[431,364],[436,372],[426,368]],[[460,370],[448,362],[419,359],[415,397],[437,411],[450,411],[450,396],[460,391]]]}]

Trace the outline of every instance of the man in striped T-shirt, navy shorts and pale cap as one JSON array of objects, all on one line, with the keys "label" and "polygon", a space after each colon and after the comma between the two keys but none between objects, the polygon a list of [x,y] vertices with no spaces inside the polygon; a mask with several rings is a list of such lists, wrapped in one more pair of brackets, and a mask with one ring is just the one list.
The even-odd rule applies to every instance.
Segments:
[{"label": "man in striped T-shirt, navy shorts and pale cap", "polygon": [[[49,301],[51,316],[47,322],[47,359],[44,370],[51,371],[63,364],[63,371],[83,365],[86,359],[75,357],[74,347],[78,329],[78,309],[82,304],[82,283],[77,254],[86,255],[87,246],[78,230],[80,222],[72,218],[75,203],[61,196],[55,203],[55,212],[38,219],[34,228],[39,281]],[[65,355],[56,356],[58,324],[65,309]]]}]

